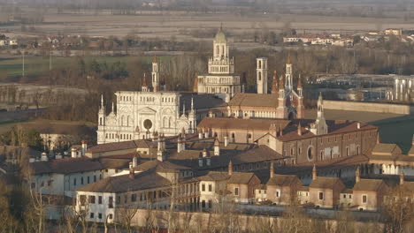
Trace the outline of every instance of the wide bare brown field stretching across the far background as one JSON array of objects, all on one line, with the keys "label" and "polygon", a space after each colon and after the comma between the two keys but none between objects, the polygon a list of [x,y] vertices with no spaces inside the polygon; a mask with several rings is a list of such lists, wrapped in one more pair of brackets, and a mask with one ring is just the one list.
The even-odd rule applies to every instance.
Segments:
[{"label": "wide bare brown field stretching across the far background", "polygon": [[[223,22],[227,31],[234,34],[253,32],[266,27],[269,30],[280,30],[287,24],[300,33],[306,32],[341,32],[356,33],[388,27],[411,29],[412,24],[401,19],[372,19],[355,17],[326,17],[307,15],[272,15],[255,14],[236,16],[232,14],[213,13],[160,13],[145,11],[141,15],[111,14],[48,14],[42,24],[35,25],[39,31],[47,34],[88,34],[91,36],[124,36],[134,33],[144,38],[170,38],[177,40],[194,40],[191,36],[180,34],[181,30],[218,28]],[[3,26],[12,34],[19,33],[19,26]],[[14,31],[14,33],[12,32]],[[198,39],[199,40],[199,39]]]}]

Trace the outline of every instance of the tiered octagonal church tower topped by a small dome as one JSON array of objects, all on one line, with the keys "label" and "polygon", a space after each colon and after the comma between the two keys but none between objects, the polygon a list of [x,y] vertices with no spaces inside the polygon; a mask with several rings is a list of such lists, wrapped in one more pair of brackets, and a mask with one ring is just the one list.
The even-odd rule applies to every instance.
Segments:
[{"label": "tiered octagonal church tower topped by a small dome", "polygon": [[215,94],[228,101],[242,91],[240,75],[234,74],[234,57],[229,55],[226,35],[220,27],[213,41],[208,73],[196,77],[194,92]]}]

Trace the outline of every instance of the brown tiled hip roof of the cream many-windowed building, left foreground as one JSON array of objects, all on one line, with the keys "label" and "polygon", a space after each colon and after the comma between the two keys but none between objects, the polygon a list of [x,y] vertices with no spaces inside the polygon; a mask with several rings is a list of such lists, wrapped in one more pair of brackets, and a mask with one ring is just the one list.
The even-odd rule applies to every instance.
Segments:
[{"label": "brown tiled hip roof of the cream many-windowed building, left foreground", "polygon": [[106,177],[93,184],[83,186],[76,191],[81,192],[129,192],[166,187],[171,182],[154,171],[135,173],[134,179],[128,175]]}]

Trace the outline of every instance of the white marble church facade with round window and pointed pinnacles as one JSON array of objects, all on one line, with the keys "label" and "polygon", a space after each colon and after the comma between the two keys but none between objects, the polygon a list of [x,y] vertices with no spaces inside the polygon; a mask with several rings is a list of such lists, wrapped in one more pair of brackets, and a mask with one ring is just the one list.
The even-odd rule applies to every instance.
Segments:
[{"label": "white marble church facade with round window and pointed pinnacles", "polygon": [[196,109],[193,100],[191,106],[188,106],[189,110],[186,111],[184,101],[180,100],[180,93],[159,91],[157,72],[157,59],[154,59],[151,76],[152,91],[149,90],[144,78],[141,92],[115,93],[116,112],[112,103],[111,113],[106,115],[103,99],[101,100],[98,113],[98,144],[148,139],[160,133],[173,136],[182,131],[195,131]]}]

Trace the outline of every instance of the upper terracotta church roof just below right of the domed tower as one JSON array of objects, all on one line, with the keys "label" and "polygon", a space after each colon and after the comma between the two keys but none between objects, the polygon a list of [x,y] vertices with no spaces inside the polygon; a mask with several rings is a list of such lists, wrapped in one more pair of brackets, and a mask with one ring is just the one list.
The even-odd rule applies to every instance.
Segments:
[{"label": "upper terracotta church roof just below right of the domed tower", "polygon": [[278,103],[279,101],[277,94],[238,93],[235,94],[233,99],[228,102],[228,105],[235,107],[278,108]]}]

